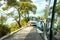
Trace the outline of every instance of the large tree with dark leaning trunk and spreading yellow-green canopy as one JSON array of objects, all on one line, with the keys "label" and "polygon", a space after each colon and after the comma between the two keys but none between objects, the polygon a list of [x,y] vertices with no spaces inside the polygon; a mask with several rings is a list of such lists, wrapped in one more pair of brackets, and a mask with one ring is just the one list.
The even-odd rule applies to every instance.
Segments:
[{"label": "large tree with dark leaning trunk and spreading yellow-green canopy", "polygon": [[[20,16],[22,13],[28,13],[29,10],[32,11],[33,7],[36,8],[35,5],[31,4],[31,0],[7,0],[7,7],[5,7],[6,9],[9,9],[11,7],[15,7],[18,11],[18,21],[17,19],[15,19],[19,25],[19,27],[21,27],[20,25]],[[5,10],[5,8],[3,8]],[[28,13],[29,14],[29,13]]]}]

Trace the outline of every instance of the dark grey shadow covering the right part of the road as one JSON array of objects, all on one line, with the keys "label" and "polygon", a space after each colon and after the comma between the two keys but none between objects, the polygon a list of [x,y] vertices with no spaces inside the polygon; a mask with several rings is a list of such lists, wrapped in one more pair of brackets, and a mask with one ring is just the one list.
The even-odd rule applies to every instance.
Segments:
[{"label": "dark grey shadow covering the right part of the road", "polygon": [[42,38],[36,32],[36,28],[33,28],[24,40],[42,40]]}]

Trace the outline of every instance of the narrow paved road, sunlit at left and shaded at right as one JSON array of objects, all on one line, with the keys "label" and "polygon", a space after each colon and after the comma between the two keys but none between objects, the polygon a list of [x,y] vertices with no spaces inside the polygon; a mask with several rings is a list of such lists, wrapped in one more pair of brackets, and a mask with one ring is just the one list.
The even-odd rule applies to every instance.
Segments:
[{"label": "narrow paved road, sunlit at left and shaded at right", "polygon": [[42,40],[35,27],[26,27],[4,40]]}]

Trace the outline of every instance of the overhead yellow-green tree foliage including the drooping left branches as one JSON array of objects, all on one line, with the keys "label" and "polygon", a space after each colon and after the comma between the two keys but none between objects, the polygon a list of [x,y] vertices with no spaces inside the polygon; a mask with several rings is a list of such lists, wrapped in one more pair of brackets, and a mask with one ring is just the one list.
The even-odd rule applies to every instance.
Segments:
[{"label": "overhead yellow-green tree foliage including the drooping left branches", "polygon": [[18,16],[15,17],[12,15],[12,13],[8,14],[8,16],[14,17],[15,20],[17,20],[17,18],[20,19],[23,13],[28,14],[29,11],[36,13],[36,6],[34,4],[31,4],[31,0],[7,0],[6,7],[3,7],[3,10],[7,10],[9,7],[15,7],[18,11]]}]

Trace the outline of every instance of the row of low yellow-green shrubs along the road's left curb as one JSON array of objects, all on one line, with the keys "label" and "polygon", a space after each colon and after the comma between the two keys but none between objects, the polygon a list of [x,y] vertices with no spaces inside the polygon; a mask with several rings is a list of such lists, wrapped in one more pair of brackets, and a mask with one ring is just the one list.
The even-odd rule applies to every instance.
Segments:
[{"label": "row of low yellow-green shrubs along the road's left curb", "polygon": [[[25,27],[28,23],[24,20],[21,20],[21,27]],[[18,24],[16,22],[11,23],[11,25],[1,25],[0,24],[0,37],[7,35],[17,29],[19,29],[20,27],[18,26]]]}]

